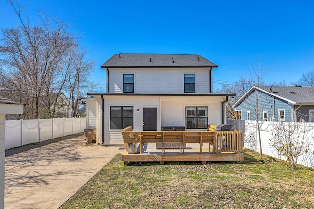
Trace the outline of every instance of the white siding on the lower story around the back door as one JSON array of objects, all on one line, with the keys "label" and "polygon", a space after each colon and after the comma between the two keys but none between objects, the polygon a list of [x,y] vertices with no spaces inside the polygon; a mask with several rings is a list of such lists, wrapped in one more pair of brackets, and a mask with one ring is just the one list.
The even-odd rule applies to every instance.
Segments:
[{"label": "white siding on the lower story around the back door", "polygon": [[223,96],[104,96],[104,143],[123,144],[121,130],[110,130],[110,106],[133,106],[133,130],[137,131],[143,128],[142,109],[156,107],[157,130],[161,130],[164,125],[185,126],[186,106],[208,106],[209,124],[221,124],[221,102],[224,100]]}]

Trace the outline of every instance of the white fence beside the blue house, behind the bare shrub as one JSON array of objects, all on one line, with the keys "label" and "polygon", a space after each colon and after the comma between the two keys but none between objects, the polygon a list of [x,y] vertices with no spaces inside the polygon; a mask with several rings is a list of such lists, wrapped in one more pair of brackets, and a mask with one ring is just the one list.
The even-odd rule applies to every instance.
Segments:
[{"label": "white fence beside the blue house, behind the bare shrub", "polygon": [[[258,132],[255,123],[255,121],[245,121],[244,147],[255,150],[256,152],[260,152]],[[274,129],[274,123],[275,122],[263,122],[262,124],[260,129],[262,139],[262,153],[278,159],[286,160],[285,156],[280,155],[273,147],[270,146],[270,139],[273,137],[272,133],[276,132]],[[285,124],[291,125],[291,123]],[[309,152],[300,156],[297,163],[314,168],[314,123],[303,124],[305,124],[303,128],[308,130],[305,140],[307,141],[307,148],[309,149]]]}]

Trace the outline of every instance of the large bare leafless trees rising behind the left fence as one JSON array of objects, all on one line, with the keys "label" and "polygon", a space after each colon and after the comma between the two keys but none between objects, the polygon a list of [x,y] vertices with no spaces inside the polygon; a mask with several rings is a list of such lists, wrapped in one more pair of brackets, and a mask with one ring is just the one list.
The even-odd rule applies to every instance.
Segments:
[{"label": "large bare leafless trees rising behind the left fence", "polygon": [[[66,86],[72,85],[69,77],[77,73],[78,65],[91,62],[83,59],[85,52],[78,54],[78,36],[70,32],[68,23],[41,17],[41,24],[32,26],[22,17],[23,6],[12,0],[7,2],[20,25],[1,29],[0,93],[23,102],[27,119],[53,117],[55,101],[51,100],[51,93],[60,95]],[[91,68],[92,65],[85,66],[85,71]],[[88,77],[88,73],[85,75]],[[78,91],[81,83],[76,82]]]}]

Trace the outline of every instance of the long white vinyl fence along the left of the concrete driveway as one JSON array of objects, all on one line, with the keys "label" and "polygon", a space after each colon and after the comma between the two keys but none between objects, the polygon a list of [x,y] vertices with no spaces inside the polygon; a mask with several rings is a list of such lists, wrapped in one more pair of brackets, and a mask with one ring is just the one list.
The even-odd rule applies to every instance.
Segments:
[{"label": "long white vinyl fence along the left of the concrete driveway", "polygon": [[84,132],[86,118],[6,120],[5,149]]}]

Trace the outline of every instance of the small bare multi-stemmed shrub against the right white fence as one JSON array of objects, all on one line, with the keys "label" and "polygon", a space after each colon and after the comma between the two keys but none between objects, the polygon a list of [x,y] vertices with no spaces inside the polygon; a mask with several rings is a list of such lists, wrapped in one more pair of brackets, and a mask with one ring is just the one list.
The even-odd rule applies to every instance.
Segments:
[{"label": "small bare multi-stemmed shrub against the right white fence", "polygon": [[275,122],[272,124],[270,145],[286,157],[292,170],[298,158],[309,150],[308,135],[314,127],[305,122]]}]

